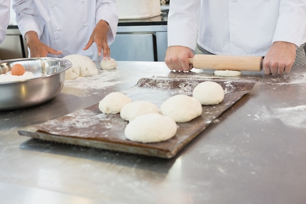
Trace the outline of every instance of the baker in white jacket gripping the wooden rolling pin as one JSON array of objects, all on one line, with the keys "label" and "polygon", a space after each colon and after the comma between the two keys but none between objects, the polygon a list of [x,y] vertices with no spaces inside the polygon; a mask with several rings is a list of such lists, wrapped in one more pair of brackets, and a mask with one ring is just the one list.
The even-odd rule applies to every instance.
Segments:
[{"label": "baker in white jacket gripping the wooden rolling pin", "polygon": [[306,0],[173,0],[165,62],[190,70],[198,45],[204,54],[264,56],[265,74],[283,74],[306,64],[305,42]]}]

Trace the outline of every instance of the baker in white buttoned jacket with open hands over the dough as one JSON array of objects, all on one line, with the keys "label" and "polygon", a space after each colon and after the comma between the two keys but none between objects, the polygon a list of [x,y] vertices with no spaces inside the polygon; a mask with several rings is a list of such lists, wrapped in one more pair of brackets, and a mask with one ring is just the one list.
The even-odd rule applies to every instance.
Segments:
[{"label": "baker in white buttoned jacket with open hands over the dough", "polygon": [[110,58],[118,25],[115,0],[13,0],[13,10],[30,57]]}]

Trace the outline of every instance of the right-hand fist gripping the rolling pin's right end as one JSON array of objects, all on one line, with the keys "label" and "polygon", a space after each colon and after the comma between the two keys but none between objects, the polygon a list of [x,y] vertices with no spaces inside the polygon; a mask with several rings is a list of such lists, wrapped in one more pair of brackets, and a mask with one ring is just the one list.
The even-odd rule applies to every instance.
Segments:
[{"label": "right-hand fist gripping the rolling pin's right end", "polygon": [[262,61],[265,74],[289,73],[295,60],[296,46],[283,41],[274,42]]}]

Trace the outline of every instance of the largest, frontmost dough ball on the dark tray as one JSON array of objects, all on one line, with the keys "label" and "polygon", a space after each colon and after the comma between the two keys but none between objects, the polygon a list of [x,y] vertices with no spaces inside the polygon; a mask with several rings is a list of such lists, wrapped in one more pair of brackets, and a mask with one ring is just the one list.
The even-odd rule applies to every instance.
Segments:
[{"label": "largest, frontmost dough ball on the dark tray", "polygon": [[175,121],[158,113],[141,115],[132,120],[125,128],[127,139],[135,142],[160,142],[175,136]]}]

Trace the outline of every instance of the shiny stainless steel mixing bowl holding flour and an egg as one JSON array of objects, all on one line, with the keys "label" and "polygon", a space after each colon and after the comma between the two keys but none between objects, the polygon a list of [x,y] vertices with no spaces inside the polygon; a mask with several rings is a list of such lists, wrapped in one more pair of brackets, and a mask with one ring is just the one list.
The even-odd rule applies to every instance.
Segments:
[{"label": "shiny stainless steel mixing bowl holding flour and an egg", "polygon": [[16,110],[44,103],[63,88],[65,71],[71,62],[61,58],[22,58],[0,61],[0,74],[21,64],[34,78],[22,81],[0,82],[0,111]]}]

